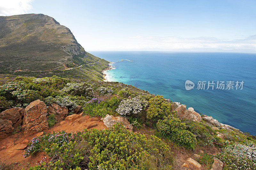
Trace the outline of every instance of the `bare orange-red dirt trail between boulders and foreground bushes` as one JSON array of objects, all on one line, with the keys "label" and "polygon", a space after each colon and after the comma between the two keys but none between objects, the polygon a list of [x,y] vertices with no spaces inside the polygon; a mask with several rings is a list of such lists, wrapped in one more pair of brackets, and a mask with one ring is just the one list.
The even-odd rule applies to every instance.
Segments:
[{"label": "bare orange-red dirt trail between boulders and foreground bushes", "polygon": [[[76,131],[83,131],[84,128],[87,128],[87,126],[92,123],[97,123],[97,126],[88,129],[107,128],[102,120],[91,121],[90,117],[86,115],[73,122],[68,120],[57,122],[53,127],[45,130],[44,134],[47,134],[48,132],[52,133],[53,131],[59,132],[62,130],[65,130],[67,133],[76,133]],[[34,156],[29,156],[27,158],[24,158],[23,156],[25,154],[24,150],[27,147],[27,142],[30,141],[33,137],[40,136],[42,134],[43,132],[40,132],[33,136],[25,137],[22,131],[0,141],[0,160],[3,162],[12,162],[17,164],[15,169],[28,169],[29,166],[35,166],[36,163],[42,159],[47,160],[48,157],[44,152],[39,152]]]}]

